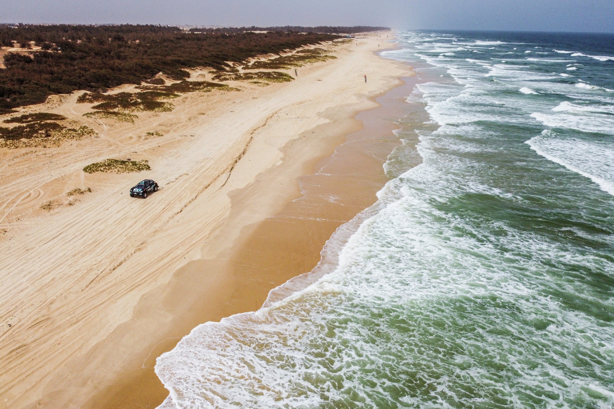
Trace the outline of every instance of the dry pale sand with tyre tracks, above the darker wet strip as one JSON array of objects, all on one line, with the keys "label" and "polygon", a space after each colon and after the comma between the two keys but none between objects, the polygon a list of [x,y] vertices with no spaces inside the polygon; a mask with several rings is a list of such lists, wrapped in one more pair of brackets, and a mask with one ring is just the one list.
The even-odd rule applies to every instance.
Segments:
[{"label": "dry pale sand with tyre tracks, above the darker wet strip", "polygon": [[[148,334],[177,319],[160,311],[139,322],[139,300],[173,288],[173,274],[188,262],[215,260],[244,227],[279,212],[297,196],[305,167],[330,153],[312,147],[289,162],[283,147],[316,132],[340,141],[359,126],[356,112],[410,75],[375,55],[377,35],[335,50],[338,58],[299,69],[291,83],[187,94],[173,112],[139,113],[134,124],[84,120],[88,107],[76,104],[78,94],[58,97],[50,112],[86,121],[98,137],[2,151],[0,408],[79,407],[139,365],[151,350]],[[163,136],[145,133],[154,130]],[[152,170],[82,172],[106,158],[147,159]],[[132,199],[128,188],[141,178],[160,190]],[[91,193],[74,200],[66,196],[74,188]],[[225,280],[194,284],[223,291]],[[186,302],[217,300],[184,291]]]}]

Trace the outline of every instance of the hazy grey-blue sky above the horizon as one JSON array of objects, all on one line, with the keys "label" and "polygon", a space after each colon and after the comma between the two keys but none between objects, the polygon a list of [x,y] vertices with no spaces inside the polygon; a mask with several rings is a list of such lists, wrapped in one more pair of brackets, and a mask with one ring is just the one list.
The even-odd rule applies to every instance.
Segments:
[{"label": "hazy grey-blue sky above the horizon", "polygon": [[614,32],[614,0],[0,0],[0,22]]}]

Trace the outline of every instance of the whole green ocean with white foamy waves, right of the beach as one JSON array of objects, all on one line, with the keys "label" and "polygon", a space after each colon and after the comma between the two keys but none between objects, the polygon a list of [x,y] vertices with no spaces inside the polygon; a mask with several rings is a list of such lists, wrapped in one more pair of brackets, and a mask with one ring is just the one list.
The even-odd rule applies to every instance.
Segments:
[{"label": "whole green ocean with white foamy waves, right of the beach", "polygon": [[158,357],[161,407],[613,407],[614,36],[397,42],[417,147],[303,288]]}]

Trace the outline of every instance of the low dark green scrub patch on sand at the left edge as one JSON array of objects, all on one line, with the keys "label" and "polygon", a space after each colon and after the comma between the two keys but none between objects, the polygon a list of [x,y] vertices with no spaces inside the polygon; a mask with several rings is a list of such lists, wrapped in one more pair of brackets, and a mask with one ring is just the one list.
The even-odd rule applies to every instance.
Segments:
[{"label": "low dark green scrub patch on sand at the left edge", "polygon": [[67,128],[56,121],[66,120],[56,113],[29,113],[4,120],[4,123],[20,123],[12,128],[0,126],[0,148],[22,148],[59,145],[68,139],[83,139],[95,134],[87,126]]}]

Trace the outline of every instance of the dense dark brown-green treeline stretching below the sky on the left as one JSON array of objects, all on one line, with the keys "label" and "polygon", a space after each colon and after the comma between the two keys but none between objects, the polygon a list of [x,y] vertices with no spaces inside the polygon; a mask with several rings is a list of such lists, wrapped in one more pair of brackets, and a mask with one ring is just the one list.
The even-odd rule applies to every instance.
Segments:
[{"label": "dense dark brown-green treeline stretching below the sky on the left", "polygon": [[[217,31],[216,31],[217,30]],[[141,83],[158,72],[188,76],[185,68],[226,69],[226,61],[338,38],[332,34],[295,31],[255,33],[211,29],[202,34],[153,25],[0,25],[2,45],[34,42],[42,51],[8,53],[0,69],[0,114],[44,102],[49,95],[75,90],[104,91]]]}]

